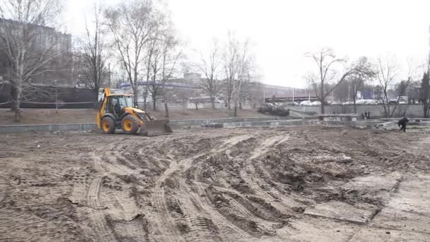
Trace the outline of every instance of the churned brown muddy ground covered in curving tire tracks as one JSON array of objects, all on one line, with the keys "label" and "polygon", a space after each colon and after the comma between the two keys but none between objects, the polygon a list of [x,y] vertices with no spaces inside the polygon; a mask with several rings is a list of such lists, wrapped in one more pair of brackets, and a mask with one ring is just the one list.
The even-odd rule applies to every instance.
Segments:
[{"label": "churned brown muddy ground covered in curving tire tracks", "polygon": [[0,136],[0,241],[430,241],[430,132]]}]

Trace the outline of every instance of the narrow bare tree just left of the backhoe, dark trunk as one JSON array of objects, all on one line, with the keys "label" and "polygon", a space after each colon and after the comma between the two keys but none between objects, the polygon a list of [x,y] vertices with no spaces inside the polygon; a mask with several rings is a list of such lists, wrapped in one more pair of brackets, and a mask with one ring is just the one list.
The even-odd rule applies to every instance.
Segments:
[{"label": "narrow bare tree just left of the backhoe, dark trunk", "polygon": [[98,99],[98,90],[107,71],[105,66],[105,30],[100,23],[102,9],[100,6],[94,6],[93,27],[90,29],[86,23],[86,35],[79,40],[79,59],[81,59],[83,80],[86,86],[93,90],[96,99]]}]

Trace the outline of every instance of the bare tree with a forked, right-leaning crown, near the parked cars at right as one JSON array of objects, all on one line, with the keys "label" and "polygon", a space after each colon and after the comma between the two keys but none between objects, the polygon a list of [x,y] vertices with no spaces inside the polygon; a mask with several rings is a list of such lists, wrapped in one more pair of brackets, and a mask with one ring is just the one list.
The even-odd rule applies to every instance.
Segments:
[{"label": "bare tree with a forked, right-leaning crown, near the parked cars at right", "polygon": [[[370,72],[370,70],[368,70],[369,66],[365,57],[361,57],[358,62],[347,68],[344,73],[339,76],[339,67],[335,66],[338,64],[344,64],[347,61],[344,58],[336,57],[333,50],[322,48],[319,52],[308,53],[306,56],[313,59],[318,66],[318,74],[311,75],[308,80],[310,81],[311,86],[313,86],[318,100],[320,100],[322,114],[325,113],[325,98],[327,98],[327,96],[330,95],[337,86],[344,82],[347,77],[353,74],[362,75],[368,71]],[[337,79],[337,81],[330,85],[330,82],[335,79]]]}]

